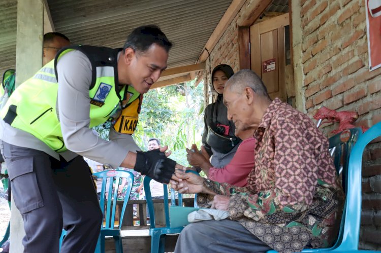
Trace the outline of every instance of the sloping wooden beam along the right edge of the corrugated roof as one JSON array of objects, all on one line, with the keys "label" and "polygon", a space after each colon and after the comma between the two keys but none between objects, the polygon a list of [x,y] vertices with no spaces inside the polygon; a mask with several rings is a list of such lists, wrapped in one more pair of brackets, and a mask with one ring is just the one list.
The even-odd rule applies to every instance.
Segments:
[{"label": "sloping wooden beam along the right edge of the corrugated roof", "polygon": [[[213,50],[219,39],[221,39],[222,35],[233,21],[235,16],[238,14],[239,10],[241,10],[243,4],[246,0],[233,0],[230,4],[229,8],[226,10],[224,16],[219,20],[219,23],[215,27],[212,35],[210,35],[209,40],[206,42],[204,48],[208,49],[209,52]],[[261,2],[260,0],[256,0],[253,2]],[[264,1],[267,2],[267,1]],[[208,53],[204,50],[201,51],[201,55],[198,59],[198,62],[204,62],[208,58]],[[197,62],[196,62],[197,63]]]}]

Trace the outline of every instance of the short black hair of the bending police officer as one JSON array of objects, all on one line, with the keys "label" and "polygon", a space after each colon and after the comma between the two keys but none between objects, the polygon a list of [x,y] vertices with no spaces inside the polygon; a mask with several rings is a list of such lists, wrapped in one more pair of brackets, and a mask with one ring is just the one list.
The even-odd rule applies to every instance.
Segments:
[{"label": "short black hair of the bending police officer", "polygon": [[172,47],[172,43],[157,25],[143,25],[130,33],[124,43],[123,51],[132,48],[135,51],[145,52],[152,44],[163,47],[167,52]]}]

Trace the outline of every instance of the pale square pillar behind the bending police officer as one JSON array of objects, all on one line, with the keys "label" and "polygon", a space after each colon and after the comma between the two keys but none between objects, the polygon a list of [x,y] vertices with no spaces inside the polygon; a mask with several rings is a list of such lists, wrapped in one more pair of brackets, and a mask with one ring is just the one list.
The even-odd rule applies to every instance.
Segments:
[{"label": "pale square pillar behind the bending police officer", "polygon": [[[17,1],[16,87],[33,76],[42,66],[43,18],[42,0]],[[23,252],[21,241],[24,235],[21,214],[12,198],[11,253]]]}]

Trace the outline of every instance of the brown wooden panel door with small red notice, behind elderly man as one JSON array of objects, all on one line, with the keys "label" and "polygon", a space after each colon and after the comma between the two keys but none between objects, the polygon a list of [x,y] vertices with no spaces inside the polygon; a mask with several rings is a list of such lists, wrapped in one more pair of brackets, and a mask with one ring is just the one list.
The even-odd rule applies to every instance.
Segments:
[{"label": "brown wooden panel door with small red notice, behind elderly man", "polygon": [[250,26],[251,69],[259,75],[272,99],[287,101],[285,87],[284,26],[289,14]]}]

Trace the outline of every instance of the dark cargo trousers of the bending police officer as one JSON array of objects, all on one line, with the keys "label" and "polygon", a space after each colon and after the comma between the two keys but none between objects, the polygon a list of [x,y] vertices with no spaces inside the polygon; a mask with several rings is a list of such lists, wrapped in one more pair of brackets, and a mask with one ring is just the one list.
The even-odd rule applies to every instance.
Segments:
[{"label": "dark cargo trousers of the bending police officer", "polygon": [[61,252],[94,252],[102,212],[83,158],[58,161],[42,151],[6,142],[3,147],[12,194],[24,221],[24,252],[58,252],[62,227],[68,234]]}]

